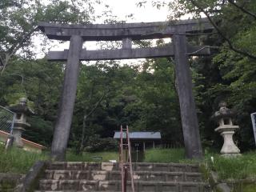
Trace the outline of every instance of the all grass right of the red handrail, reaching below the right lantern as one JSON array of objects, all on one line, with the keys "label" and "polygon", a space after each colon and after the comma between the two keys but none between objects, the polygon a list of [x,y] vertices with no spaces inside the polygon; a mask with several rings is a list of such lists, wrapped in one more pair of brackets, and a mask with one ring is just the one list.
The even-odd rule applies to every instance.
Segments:
[{"label": "all grass right of the red handrail, reaching below the right lantern", "polygon": [[[212,162],[211,157],[214,158]],[[185,158],[184,149],[147,150],[144,162],[205,163],[210,170],[218,173],[220,179],[256,179],[256,152],[242,154],[236,158],[224,158],[220,154],[206,154],[202,160]]]}]

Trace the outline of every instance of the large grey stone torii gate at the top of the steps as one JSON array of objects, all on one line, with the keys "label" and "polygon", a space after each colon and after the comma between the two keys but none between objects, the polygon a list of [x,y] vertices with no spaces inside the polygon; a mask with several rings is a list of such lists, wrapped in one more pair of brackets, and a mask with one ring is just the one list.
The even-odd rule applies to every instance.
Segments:
[{"label": "large grey stone torii gate at the top of the steps", "polygon": [[[62,98],[54,129],[51,157],[65,159],[66,146],[74,110],[80,61],[174,57],[178,98],[182,116],[182,130],[188,158],[201,158],[202,146],[198,130],[198,118],[192,94],[189,56],[210,54],[209,48],[190,46],[186,35],[207,32],[213,29],[206,19],[182,20],[178,22],[149,22],[122,24],[64,25],[40,22],[39,29],[48,38],[70,41],[70,49],[50,51],[50,61],[67,61]],[[133,49],[132,40],[172,38],[170,46]],[[122,49],[86,50],[86,41],[122,41]]]}]

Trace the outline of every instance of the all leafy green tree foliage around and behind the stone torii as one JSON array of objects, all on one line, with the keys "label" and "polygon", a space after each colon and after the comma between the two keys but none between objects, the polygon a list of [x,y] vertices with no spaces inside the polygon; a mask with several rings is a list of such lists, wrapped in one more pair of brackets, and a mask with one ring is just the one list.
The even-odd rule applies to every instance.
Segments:
[{"label": "all leafy green tree foliage around and behind the stone torii", "polygon": [[[29,119],[32,126],[25,132],[25,138],[50,146],[65,69],[63,63],[33,57],[38,46],[34,43],[38,22],[89,23],[96,17],[94,6],[98,3],[89,0],[0,2],[0,68],[4,71],[0,75],[0,105],[9,106],[20,97],[29,99],[36,116]],[[250,113],[255,112],[256,106],[256,3],[175,0],[153,1],[151,5],[158,9],[170,6],[170,18],[174,19],[185,14],[210,16],[215,31],[208,36],[188,38],[191,44],[218,48],[212,50],[210,57],[190,58],[202,141],[208,147],[209,143],[214,143],[215,148],[221,146],[222,138],[214,132],[216,125],[210,116],[217,110],[218,102],[226,100],[237,111],[236,123],[241,127],[235,141],[242,151],[252,149]],[[116,21],[106,19],[105,22]],[[151,42],[136,43],[151,45]],[[159,40],[157,44],[163,43]],[[113,48],[113,45],[102,47]],[[114,61],[83,63],[69,146],[81,152],[92,143],[105,143],[102,138],[112,137],[122,123],[135,131],[160,130],[163,142],[182,146],[175,86],[174,62],[166,58],[146,59],[138,66]]]}]

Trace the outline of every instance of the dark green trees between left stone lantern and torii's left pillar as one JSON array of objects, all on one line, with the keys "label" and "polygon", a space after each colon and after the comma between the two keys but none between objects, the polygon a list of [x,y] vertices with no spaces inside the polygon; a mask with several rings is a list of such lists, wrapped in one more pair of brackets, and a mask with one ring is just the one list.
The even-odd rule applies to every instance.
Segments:
[{"label": "dark green trees between left stone lantern and torii's left pillar", "polygon": [[63,65],[50,64],[46,59],[28,61],[12,59],[0,76],[1,106],[10,106],[20,97],[30,101],[36,116],[23,136],[33,142],[50,146],[54,119],[57,115],[59,92],[62,87]]}]

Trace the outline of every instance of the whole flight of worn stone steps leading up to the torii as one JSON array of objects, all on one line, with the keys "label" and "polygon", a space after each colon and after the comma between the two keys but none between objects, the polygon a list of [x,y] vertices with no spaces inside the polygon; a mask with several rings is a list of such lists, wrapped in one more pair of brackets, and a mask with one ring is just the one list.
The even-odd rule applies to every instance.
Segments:
[{"label": "whole flight of worn stone steps leading up to the torii", "polygon": [[[197,165],[133,163],[136,192],[210,192]],[[129,175],[129,174],[128,174]],[[118,192],[122,190],[118,163],[52,162],[35,192]],[[130,190],[130,177],[127,181]]]}]

